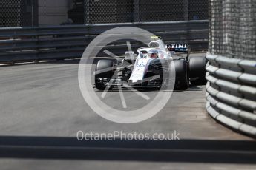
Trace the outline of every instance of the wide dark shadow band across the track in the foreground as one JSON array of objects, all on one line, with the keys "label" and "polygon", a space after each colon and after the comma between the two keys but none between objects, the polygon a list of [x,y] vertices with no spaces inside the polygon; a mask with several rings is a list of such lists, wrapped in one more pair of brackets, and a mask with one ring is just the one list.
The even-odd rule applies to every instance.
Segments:
[{"label": "wide dark shadow band across the track in the foreground", "polygon": [[1,158],[256,164],[254,140],[82,140],[1,136]]}]

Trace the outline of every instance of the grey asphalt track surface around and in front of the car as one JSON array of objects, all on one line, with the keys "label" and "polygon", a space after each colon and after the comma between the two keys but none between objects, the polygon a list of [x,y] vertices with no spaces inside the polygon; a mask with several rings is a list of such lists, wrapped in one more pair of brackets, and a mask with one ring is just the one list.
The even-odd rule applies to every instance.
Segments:
[{"label": "grey asphalt track surface around and in front of the car", "polygon": [[[70,60],[0,67],[0,169],[256,169],[255,140],[207,115],[205,86],[173,92],[144,122],[119,124],[85,103],[78,66]],[[134,92],[124,93],[134,101]],[[105,99],[122,106],[116,90]],[[176,131],[180,140],[79,141],[78,131]]]}]

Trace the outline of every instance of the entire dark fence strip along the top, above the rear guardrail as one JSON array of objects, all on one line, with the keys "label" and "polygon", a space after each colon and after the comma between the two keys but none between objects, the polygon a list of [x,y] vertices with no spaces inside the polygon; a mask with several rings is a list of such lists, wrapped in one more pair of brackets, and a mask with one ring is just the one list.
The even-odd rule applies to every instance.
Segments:
[{"label": "entire dark fence strip along the top, above the rear guardrail", "polygon": [[1,0],[0,27],[208,19],[208,0]]}]

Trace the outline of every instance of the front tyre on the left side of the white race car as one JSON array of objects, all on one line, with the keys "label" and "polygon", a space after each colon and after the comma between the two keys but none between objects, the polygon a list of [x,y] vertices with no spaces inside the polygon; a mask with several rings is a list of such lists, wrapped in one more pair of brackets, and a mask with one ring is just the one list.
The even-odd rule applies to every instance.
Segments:
[{"label": "front tyre on the left side of the white race car", "polygon": [[[105,90],[108,81],[114,75],[113,60],[99,60],[95,69],[95,87],[99,90]],[[110,88],[111,89],[111,88]]]}]

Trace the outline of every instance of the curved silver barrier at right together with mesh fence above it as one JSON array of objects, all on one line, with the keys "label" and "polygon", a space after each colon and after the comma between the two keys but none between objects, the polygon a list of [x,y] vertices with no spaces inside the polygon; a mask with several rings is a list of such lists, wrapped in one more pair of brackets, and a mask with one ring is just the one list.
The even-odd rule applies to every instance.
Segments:
[{"label": "curved silver barrier at right together with mesh fence above it", "polygon": [[209,4],[206,109],[226,126],[256,136],[256,1]]}]

